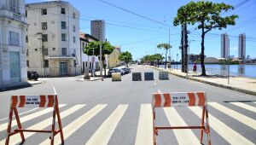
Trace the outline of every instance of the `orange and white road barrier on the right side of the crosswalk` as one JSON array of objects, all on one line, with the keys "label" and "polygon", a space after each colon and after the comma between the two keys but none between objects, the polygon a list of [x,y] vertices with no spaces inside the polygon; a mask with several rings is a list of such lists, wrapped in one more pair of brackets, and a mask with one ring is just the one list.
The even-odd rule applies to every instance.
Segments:
[{"label": "orange and white road barrier on the right side of the crosswalk", "polygon": [[[155,107],[202,107],[202,118],[200,126],[155,126]],[[210,125],[207,110],[207,96],[205,92],[183,92],[183,93],[154,93],[152,97],[153,109],[153,134],[154,145],[156,145],[156,136],[158,130],[173,129],[200,129],[200,142],[202,144],[203,132],[207,134],[208,145],[211,145]],[[206,125],[205,125],[206,119]]]}]

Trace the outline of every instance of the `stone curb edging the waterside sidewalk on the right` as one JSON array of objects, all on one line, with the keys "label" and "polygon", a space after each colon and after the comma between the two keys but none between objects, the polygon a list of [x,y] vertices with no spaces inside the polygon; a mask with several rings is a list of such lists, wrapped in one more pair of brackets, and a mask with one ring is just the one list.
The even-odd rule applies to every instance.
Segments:
[{"label": "stone curb edging the waterside sidewalk on the right", "polygon": [[[151,67],[151,68],[154,68],[154,69],[159,70],[159,71],[163,71],[163,70],[161,70],[159,68],[156,68],[156,67]],[[210,85],[214,85],[214,86],[229,89],[229,90],[236,90],[236,91],[239,91],[239,92],[242,92],[242,93],[246,93],[246,94],[249,94],[249,95],[256,96],[256,92],[252,91],[252,90],[243,90],[243,89],[239,89],[239,88],[236,88],[236,87],[227,86],[227,85],[224,85],[224,84],[212,83],[212,82],[208,82],[206,80],[201,80],[201,79],[197,79],[197,78],[189,78],[189,77],[186,77],[186,76],[183,76],[183,75],[179,75],[177,73],[171,73],[171,72],[168,72],[168,73],[170,73],[172,75],[175,75],[177,77],[180,77],[180,78],[186,78],[186,79],[189,79],[189,80],[194,80],[196,82],[201,82],[201,83],[204,83],[204,84],[210,84]]]}]

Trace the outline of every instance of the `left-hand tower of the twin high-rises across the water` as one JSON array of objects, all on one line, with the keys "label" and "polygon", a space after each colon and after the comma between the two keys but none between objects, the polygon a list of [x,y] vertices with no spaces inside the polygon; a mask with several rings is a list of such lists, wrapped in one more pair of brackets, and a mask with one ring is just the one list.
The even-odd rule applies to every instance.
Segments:
[{"label": "left-hand tower of the twin high-rises across the water", "polygon": [[221,58],[229,57],[230,41],[227,33],[221,34]]}]

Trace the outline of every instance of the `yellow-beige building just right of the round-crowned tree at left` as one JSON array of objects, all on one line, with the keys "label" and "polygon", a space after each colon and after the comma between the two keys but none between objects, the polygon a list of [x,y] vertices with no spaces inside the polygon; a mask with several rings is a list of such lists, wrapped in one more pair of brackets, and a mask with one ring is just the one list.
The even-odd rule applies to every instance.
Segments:
[{"label": "yellow-beige building just right of the round-crowned tree at left", "polygon": [[108,55],[108,68],[113,68],[113,67],[119,67],[120,66],[120,61],[119,61],[119,55],[121,53],[121,50],[119,47],[115,47],[113,49],[113,52]]}]

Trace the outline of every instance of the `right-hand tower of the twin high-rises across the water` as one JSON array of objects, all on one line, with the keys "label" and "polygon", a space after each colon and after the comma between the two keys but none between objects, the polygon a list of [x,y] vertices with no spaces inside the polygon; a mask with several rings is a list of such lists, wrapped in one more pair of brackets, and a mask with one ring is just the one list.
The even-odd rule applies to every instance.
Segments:
[{"label": "right-hand tower of the twin high-rises across the water", "polygon": [[246,59],[246,35],[245,35],[245,33],[239,35],[238,58],[241,60]]}]

